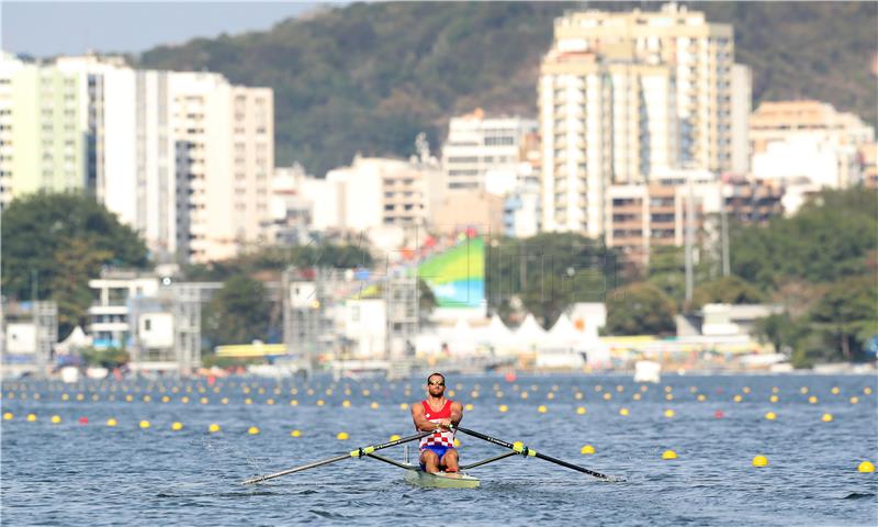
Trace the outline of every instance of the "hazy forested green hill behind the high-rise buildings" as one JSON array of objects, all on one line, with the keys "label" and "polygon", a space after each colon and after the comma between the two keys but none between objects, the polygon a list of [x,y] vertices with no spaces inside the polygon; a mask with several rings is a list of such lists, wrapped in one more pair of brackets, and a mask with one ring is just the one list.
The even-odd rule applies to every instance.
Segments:
[{"label": "hazy forested green hill behind the high-rise buildings", "polygon": [[[583,3],[357,3],[270,31],[161,46],[140,67],[209,69],[274,89],[277,162],[323,175],[364,155],[407,156],[427,132],[476,106],[536,114],[539,61],[553,20]],[[587,2],[623,10],[635,3]],[[648,9],[657,9],[650,4]],[[814,98],[878,122],[878,3],[699,3],[734,24],[736,60],[759,100]]]}]

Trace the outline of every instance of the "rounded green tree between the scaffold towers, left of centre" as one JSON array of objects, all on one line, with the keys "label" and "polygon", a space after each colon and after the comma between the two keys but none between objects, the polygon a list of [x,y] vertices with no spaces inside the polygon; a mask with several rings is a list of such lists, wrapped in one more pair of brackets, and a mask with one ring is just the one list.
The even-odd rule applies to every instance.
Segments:
[{"label": "rounded green tree between the scaffold towers, left of centre", "polygon": [[232,277],[207,304],[204,336],[212,346],[266,340],[269,309],[262,282],[247,276]]}]

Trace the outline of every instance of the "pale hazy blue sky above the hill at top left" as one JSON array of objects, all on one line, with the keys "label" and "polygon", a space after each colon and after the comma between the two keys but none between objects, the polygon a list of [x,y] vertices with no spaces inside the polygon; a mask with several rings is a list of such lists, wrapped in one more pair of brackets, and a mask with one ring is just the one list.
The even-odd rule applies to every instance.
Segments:
[{"label": "pale hazy blue sky above the hill at top left", "polygon": [[[338,2],[336,2],[338,3]],[[196,36],[267,30],[317,2],[9,2],[0,0],[0,43],[36,57],[142,52]]]}]

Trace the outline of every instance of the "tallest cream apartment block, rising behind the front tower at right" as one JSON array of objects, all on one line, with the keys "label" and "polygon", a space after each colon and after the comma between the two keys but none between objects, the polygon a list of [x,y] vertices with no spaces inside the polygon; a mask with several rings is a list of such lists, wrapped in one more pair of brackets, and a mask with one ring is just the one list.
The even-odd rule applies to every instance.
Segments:
[{"label": "tallest cream apartment block, rising behind the front tower at right", "polygon": [[667,67],[675,78],[680,162],[713,172],[732,169],[731,25],[710,23],[702,12],[676,3],[660,11],[588,10],[555,21],[554,49]]}]

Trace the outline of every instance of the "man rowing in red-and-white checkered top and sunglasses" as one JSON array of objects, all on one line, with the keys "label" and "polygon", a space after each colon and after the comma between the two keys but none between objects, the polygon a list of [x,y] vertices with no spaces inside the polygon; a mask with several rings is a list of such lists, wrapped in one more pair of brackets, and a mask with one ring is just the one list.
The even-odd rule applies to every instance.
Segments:
[{"label": "man rowing in red-and-white checkered top and sunglasses", "polygon": [[458,472],[454,428],[463,418],[463,406],[447,400],[446,377],[432,373],[427,378],[427,399],[412,405],[412,419],[418,431],[435,431],[420,439],[420,468],[430,473],[440,470]]}]

